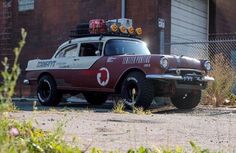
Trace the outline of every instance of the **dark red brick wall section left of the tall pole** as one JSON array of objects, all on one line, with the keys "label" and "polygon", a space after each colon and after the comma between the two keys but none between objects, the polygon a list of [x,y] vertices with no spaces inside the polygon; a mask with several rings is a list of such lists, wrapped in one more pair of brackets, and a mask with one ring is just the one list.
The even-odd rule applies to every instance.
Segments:
[{"label": "dark red brick wall section left of the tall pole", "polygon": [[88,22],[90,18],[120,17],[120,3],[117,2],[42,0],[35,1],[33,11],[18,12],[16,8],[15,32],[17,33],[20,27],[28,31],[27,44],[21,54],[22,68],[26,67],[26,61],[29,59],[50,58],[58,45],[69,39],[69,31],[77,24]]}]

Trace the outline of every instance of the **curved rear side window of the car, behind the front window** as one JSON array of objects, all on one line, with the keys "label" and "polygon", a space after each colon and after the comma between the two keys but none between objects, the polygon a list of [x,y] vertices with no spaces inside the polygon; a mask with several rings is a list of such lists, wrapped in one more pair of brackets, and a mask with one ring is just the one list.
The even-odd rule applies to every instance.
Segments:
[{"label": "curved rear side window of the car, behind the front window", "polygon": [[76,57],[78,56],[77,52],[78,45],[70,45],[65,48],[63,48],[57,55],[56,58],[70,58],[70,57]]}]

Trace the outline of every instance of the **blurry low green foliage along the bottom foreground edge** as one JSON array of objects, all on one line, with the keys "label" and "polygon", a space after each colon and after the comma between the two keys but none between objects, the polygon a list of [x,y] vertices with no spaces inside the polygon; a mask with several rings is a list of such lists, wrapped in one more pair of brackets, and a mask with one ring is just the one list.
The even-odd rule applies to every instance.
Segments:
[{"label": "blurry low green foliage along the bottom foreground edge", "polygon": [[[60,123],[54,132],[43,131],[34,128],[31,122],[17,122],[3,113],[0,117],[0,153],[81,153],[78,147],[68,145],[61,137],[62,127]],[[195,143],[190,142],[192,150],[185,151],[182,147],[175,148],[147,148],[139,147],[130,149],[127,153],[214,153],[208,149],[201,149]],[[86,151],[87,152],[87,151]],[[100,148],[91,148],[90,153],[103,153]],[[119,153],[119,151],[110,151]],[[215,152],[216,153],[216,152]],[[220,153],[220,152],[218,152]]]}]

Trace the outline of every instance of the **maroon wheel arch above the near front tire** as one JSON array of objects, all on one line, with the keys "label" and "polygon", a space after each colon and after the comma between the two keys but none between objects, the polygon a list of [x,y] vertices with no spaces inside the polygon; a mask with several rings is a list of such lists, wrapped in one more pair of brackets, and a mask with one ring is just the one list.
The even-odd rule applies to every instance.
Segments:
[{"label": "maroon wheel arch above the near front tire", "polygon": [[119,81],[117,81],[116,85],[115,85],[115,91],[116,92],[120,92],[121,91],[121,86],[122,86],[122,83],[125,79],[125,77],[131,73],[131,72],[141,72],[143,73],[144,75],[146,74],[143,70],[139,69],[139,68],[131,68],[131,69],[128,69],[126,70],[119,78]]}]

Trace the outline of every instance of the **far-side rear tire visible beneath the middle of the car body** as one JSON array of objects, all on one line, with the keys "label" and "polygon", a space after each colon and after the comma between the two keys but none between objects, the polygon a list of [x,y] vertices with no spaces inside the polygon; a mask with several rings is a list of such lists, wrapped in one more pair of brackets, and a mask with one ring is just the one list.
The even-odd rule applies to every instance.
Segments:
[{"label": "far-side rear tire visible beneath the middle of the car body", "polygon": [[85,92],[84,98],[91,105],[102,105],[106,102],[108,95],[105,93]]}]

